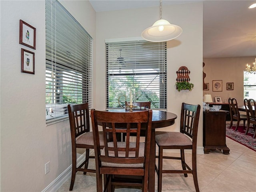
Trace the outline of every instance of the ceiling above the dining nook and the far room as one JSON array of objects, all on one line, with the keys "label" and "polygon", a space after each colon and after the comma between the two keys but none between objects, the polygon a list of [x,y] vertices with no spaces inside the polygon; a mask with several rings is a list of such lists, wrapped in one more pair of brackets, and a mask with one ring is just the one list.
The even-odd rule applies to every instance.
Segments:
[{"label": "ceiling above the dining nook and the far room", "polygon": [[[163,0],[162,5],[201,2]],[[160,6],[159,0],[90,0],[96,12]],[[256,0],[203,1],[203,57],[256,56]]]}]

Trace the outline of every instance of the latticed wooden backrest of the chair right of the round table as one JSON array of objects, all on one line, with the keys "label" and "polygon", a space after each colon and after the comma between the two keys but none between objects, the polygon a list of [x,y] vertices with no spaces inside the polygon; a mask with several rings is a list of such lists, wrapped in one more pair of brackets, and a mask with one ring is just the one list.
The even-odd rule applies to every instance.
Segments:
[{"label": "latticed wooden backrest of the chair right of the round table", "polygon": [[194,135],[197,135],[199,114],[200,105],[182,103],[180,132],[188,135],[190,138],[193,138]]}]

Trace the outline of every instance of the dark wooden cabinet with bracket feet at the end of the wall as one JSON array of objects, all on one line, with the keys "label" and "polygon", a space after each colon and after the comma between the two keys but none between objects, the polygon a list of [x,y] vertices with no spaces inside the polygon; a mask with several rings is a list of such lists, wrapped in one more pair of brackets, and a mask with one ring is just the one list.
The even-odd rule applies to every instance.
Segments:
[{"label": "dark wooden cabinet with bracket feet at the end of the wall", "polygon": [[204,111],[203,112],[203,146],[204,153],[210,150],[223,150],[229,154],[226,145],[226,116],[228,111]]}]

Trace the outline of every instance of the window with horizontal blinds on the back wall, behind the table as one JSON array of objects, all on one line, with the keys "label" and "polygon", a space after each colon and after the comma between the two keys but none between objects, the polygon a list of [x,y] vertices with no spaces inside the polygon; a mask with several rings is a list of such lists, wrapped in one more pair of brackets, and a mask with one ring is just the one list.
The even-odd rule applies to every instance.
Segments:
[{"label": "window with horizontal blinds on the back wall, behind the table", "polygon": [[130,88],[136,101],[167,108],[166,42],[106,42],[106,107],[119,108],[118,98],[127,96]]}]

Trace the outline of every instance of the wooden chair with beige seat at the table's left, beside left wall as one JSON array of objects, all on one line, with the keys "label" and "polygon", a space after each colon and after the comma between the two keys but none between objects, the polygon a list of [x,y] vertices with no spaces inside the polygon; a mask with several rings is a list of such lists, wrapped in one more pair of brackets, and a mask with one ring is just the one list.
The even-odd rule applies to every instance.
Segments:
[{"label": "wooden chair with beige seat at the table's left, beside left wall", "polygon": [[[71,144],[72,144],[72,176],[70,183],[70,191],[73,190],[76,172],[82,171],[95,173],[93,169],[88,169],[88,162],[90,158],[90,149],[94,150],[94,141],[92,132],[90,132],[89,120],[89,107],[88,103],[68,105],[68,116],[71,131]],[[100,147],[103,148],[103,132],[99,132]],[[78,167],[76,165],[76,148],[86,149],[86,158]],[[84,168],[82,168],[84,166]]]}]

